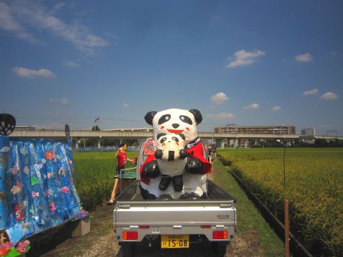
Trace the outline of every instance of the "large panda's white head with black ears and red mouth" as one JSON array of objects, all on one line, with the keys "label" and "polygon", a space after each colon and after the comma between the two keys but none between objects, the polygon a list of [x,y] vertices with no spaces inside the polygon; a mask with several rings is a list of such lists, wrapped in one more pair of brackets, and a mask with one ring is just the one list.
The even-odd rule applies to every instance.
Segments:
[{"label": "large panda's white head with black ears and red mouth", "polygon": [[161,112],[148,112],[145,121],[154,128],[154,139],[158,134],[183,134],[185,143],[198,137],[196,125],[202,121],[198,110],[169,109]]}]

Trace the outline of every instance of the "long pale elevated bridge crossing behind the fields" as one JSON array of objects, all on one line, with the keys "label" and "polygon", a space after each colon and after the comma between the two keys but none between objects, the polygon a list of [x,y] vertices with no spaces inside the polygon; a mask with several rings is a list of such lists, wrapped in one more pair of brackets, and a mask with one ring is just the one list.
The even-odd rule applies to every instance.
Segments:
[{"label": "long pale elevated bridge crossing behind the fields", "polygon": [[[79,140],[81,138],[95,138],[98,140],[98,147],[101,147],[101,139],[117,139],[120,142],[123,139],[134,139],[142,140],[145,138],[152,137],[152,130],[111,130],[111,131],[89,131],[89,130],[72,130],[70,132],[73,145],[78,147]],[[239,141],[244,141],[244,144],[248,140],[263,140],[263,139],[275,139],[275,140],[286,140],[292,142],[300,139],[307,142],[322,138],[325,140],[334,140],[338,138],[343,140],[342,136],[304,136],[298,134],[241,134],[241,133],[214,133],[214,132],[198,132],[198,136],[204,140],[214,140],[216,145],[223,147],[225,140],[234,140],[235,146],[239,145]],[[64,130],[14,130],[10,134],[10,138],[43,138],[45,140],[65,140],[66,134]]]}]

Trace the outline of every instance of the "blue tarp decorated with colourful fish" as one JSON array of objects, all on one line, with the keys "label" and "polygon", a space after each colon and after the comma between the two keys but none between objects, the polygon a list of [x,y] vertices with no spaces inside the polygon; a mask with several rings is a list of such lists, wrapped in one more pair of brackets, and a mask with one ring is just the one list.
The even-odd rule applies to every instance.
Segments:
[{"label": "blue tarp decorated with colourful fish", "polygon": [[0,184],[0,214],[5,211],[4,227],[12,242],[70,221],[81,212],[72,151],[66,143],[13,140],[5,162],[8,204],[7,209],[1,206]]}]

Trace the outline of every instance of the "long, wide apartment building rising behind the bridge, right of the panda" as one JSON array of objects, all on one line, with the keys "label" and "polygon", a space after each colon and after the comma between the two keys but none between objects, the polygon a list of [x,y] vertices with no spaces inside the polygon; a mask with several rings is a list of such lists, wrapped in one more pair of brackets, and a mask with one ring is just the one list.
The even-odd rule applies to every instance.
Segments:
[{"label": "long, wide apartment building rising behind the bridge, right of the panda", "polygon": [[239,133],[239,134],[287,134],[295,135],[294,125],[274,125],[274,126],[233,126],[215,127],[215,133]]}]

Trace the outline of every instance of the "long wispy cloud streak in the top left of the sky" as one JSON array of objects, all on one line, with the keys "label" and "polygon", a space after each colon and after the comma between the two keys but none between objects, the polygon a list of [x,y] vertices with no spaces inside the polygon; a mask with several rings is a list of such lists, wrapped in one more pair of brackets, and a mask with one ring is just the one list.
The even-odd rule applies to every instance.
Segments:
[{"label": "long wispy cloud streak in the top left of the sky", "polygon": [[29,42],[38,42],[33,35],[33,29],[38,32],[46,31],[70,42],[87,55],[93,55],[96,48],[110,44],[108,40],[89,32],[88,27],[82,25],[80,21],[67,23],[58,19],[55,12],[62,8],[62,4],[47,10],[43,3],[40,1],[0,3],[0,29],[12,32],[16,37]]}]

